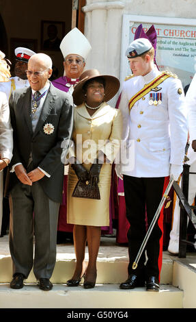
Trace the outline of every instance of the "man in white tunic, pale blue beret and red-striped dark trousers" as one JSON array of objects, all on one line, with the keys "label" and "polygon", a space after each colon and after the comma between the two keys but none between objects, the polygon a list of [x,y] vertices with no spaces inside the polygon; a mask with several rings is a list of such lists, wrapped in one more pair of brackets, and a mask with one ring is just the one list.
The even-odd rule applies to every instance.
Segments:
[{"label": "man in white tunic, pale blue beret and red-striped dark trousers", "polygon": [[[123,175],[128,230],[128,279],[120,288],[143,286],[158,291],[163,253],[163,209],[136,269],[132,264],[146,234],[145,212],[150,225],[169,175],[177,180],[182,173],[187,140],[184,92],[179,79],[160,72],[154,65],[154,48],[149,40],[134,40],[126,51],[132,77],[124,82],[120,110],[123,116],[123,140],[127,151],[131,143],[135,153],[128,164],[121,159],[117,175]],[[170,130],[169,130],[170,127]]]}]

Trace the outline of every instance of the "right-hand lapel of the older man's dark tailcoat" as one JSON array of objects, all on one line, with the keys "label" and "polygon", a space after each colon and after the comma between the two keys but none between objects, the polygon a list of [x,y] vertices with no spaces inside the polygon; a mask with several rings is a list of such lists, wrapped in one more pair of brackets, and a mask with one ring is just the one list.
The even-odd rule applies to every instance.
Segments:
[{"label": "right-hand lapel of the older man's dark tailcoat", "polygon": [[44,104],[42,106],[42,112],[40,114],[40,118],[38,120],[38,123],[36,125],[35,132],[33,136],[36,136],[36,134],[40,131],[40,128],[43,126],[44,122],[46,121],[48,115],[51,112],[52,108],[55,108],[55,99],[57,99],[56,93],[53,91],[53,85],[51,84],[48,94],[46,95],[46,99],[44,101]]}]

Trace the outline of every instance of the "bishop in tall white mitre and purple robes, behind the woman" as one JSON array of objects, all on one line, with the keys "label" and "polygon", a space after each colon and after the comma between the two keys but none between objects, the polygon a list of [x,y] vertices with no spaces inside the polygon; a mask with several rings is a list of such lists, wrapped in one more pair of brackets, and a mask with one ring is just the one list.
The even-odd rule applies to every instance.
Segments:
[{"label": "bishop in tall white mitre and purple robes, behind the woman", "polygon": [[[74,28],[61,41],[60,49],[64,57],[64,75],[55,79],[52,84],[59,90],[72,95],[74,85],[79,82],[79,77],[85,68],[87,55],[92,47],[83,33]],[[57,244],[73,240],[73,225],[67,223],[67,180],[68,165],[64,168],[64,192],[63,201],[59,208]]]}]

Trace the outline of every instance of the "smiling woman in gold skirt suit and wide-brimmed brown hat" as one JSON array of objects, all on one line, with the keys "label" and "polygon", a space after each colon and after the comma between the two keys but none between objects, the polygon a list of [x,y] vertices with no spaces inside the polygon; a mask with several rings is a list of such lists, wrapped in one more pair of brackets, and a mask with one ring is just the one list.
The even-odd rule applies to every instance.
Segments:
[{"label": "smiling woman in gold skirt suit and wide-brimmed brown hat", "polygon": [[[122,118],[109,101],[120,87],[117,78],[100,75],[96,69],[85,71],[72,94],[74,110],[74,149],[68,173],[68,223],[74,224],[76,269],[68,286],[78,286],[85,271],[84,288],[96,284],[96,259],[101,226],[109,225],[111,165],[120,149]],[[70,151],[71,153],[71,151]],[[100,199],[72,197],[79,179],[98,182]],[[84,269],[87,242],[89,262]]]}]

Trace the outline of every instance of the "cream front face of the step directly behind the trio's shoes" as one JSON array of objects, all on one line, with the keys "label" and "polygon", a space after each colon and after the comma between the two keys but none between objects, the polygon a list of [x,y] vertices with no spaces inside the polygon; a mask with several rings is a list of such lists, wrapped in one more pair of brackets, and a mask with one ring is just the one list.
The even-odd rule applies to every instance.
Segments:
[{"label": "cream front face of the step directly behind the trio's shoes", "polygon": [[[87,258],[86,258],[87,260]],[[72,277],[75,259],[66,254],[57,253],[55,269],[51,277],[53,283],[65,283]],[[128,258],[98,258],[98,284],[120,284],[127,278]],[[160,274],[161,284],[172,284],[173,260],[163,259],[163,268]],[[12,280],[12,259],[10,256],[0,256],[0,283],[9,283]],[[29,274],[27,283],[35,283],[33,271]]]}]

